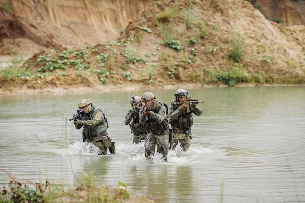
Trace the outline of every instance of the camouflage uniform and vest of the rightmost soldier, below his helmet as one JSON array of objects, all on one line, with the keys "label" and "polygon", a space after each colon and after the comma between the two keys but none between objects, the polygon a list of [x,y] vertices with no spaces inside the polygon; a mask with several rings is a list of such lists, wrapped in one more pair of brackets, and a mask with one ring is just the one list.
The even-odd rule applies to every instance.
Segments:
[{"label": "camouflage uniform and vest of the rightmost soldier, below his helmet", "polygon": [[[179,89],[180,90],[180,89]],[[183,90],[183,89],[182,89]],[[186,91],[187,92],[187,91]],[[177,100],[173,100],[171,102],[171,108],[169,113],[170,123],[173,132],[175,133],[175,138],[171,141],[172,150],[180,142],[180,147],[182,147],[183,151],[187,151],[191,145],[191,126],[193,125],[193,116],[201,115],[203,110],[199,107],[192,108],[189,104],[186,110],[181,111],[180,106],[176,105]]]}]

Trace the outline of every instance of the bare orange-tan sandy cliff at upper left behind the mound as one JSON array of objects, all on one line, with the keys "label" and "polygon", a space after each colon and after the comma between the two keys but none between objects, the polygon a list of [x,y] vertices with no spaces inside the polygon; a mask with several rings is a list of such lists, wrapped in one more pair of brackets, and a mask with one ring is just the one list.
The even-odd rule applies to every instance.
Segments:
[{"label": "bare orange-tan sandy cliff at upper left behind the mound", "polygon": [[[5,1],[3,1],[5,2]],[[31,56],[44,48],[74,49],[115,40],[152,0],[6,0],[0,9],[0,55]]]}]

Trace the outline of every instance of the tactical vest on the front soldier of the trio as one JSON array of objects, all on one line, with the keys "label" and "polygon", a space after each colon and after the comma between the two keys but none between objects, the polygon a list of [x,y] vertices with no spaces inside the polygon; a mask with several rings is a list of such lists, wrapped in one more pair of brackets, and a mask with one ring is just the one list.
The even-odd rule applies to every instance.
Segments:
[{"label": "tactical vest on the front soldier of the trio", "polygon": [[[147,121],[147,128],[149,129],[150,132],[152,132],[155,135],[163,135],[165,130],[169,130],[168,126],[169,126],[169,120],[168,120],[168,107],[167,104],[163,103],[163,102],[158,102],[159,106],[158,109],[155,113],[159,113],[159,111],[161,110],[161,108],[163,106],[166,107],[166,117],[162,122],[157,122],[153,119],[149,119]],[[153,111],[154,112],[154,111]]]}]

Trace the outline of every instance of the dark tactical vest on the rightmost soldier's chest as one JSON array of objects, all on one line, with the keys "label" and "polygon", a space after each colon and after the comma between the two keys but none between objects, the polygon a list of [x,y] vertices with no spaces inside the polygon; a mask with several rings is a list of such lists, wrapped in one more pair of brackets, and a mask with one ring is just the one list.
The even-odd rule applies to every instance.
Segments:
[{"label": "dark tactical vest on the rightmost soldier's chest", "polygon": [[179,129],[189,129],[193,125],[193,116],[191,115],[193,110],[190,107],[189,111],[183,110],[181,114],[171,121],[171,126]]}]

